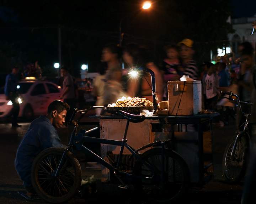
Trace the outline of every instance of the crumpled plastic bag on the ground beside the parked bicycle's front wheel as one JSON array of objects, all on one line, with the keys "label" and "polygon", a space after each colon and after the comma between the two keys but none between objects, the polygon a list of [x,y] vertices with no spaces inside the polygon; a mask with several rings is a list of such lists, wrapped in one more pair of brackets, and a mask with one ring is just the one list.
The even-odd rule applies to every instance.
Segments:
[{"label": "crumpled plastic bag on the ground beside the parked bicycle's front wheel", "polygon": [[81,187],[79,189],[79,194],[82,198],[88,198],[90,196],[93,196],[97,192],[96,187],[96,179],[94,178],[94,175],[91,177],[87,177],[85,180],[82,179]]}]

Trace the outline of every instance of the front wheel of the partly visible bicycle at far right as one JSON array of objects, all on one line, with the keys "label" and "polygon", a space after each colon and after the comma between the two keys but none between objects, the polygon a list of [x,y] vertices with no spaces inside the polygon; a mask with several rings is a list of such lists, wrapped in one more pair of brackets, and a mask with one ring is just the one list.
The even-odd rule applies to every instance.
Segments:
[{"label": "front wheel of the partly visible bicycle at far right", "polygon": [[245,133],[238,141],[234,159],[231,159],[234,143],[235,137],[226,146],[222,159],[223,177],[229,184],[239,183],[244,178],[249,156],[249,141]]}]

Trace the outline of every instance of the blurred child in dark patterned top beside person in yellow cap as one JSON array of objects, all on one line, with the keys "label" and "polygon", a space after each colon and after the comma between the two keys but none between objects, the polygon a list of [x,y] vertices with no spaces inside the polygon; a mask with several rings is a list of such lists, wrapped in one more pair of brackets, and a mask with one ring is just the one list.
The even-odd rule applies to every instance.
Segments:
[{"label": "blurred child in dark patterned top beside person in yellow cap", "polygon": [[180,70],[179,50],[176,45],[167,45],[165,47],[167,58],[162,62],[161,72],[164,80],[163,98],[167,100],[168,81],[179,81],[182,77]]}]

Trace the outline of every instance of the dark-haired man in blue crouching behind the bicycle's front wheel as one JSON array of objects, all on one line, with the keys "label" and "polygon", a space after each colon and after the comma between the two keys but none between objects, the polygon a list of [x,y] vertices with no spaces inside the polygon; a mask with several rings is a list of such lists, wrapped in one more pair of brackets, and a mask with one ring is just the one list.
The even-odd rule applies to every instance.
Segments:
[{"label": "dark-haired man in blue crouching behind the bicycle's front wheel", "polygon": [[49,147],[63,147],[55,128],[59,128],[65,122],[65,116],[69,105],[55,100],[49,104],[46,116],[41,115],[32,121],[27,133],[18,146],[15,169],[23,181],[27,192],[19,191],[26,199],[39,199],[31,181],[31,167],[34,159],[44,149]]}]

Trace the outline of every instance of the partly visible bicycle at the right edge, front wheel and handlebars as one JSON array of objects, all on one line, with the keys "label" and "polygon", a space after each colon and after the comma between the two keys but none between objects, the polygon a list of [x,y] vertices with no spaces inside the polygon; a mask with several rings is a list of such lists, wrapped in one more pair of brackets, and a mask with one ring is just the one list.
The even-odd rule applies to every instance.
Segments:
[{"label": "partly visible bicycle at the right edge, front wheel and handlebars", "polygon": [[[234,101],[237,104],[240,112],[246,117],[244,129],[235,137],[231,138],[225,148],[222,160],[222,171],[225,181],[230,184],[235,184],[240,182],[245,175],[250,149],[250,134],[248,129],[251,115],[250,108],[249,111],[245,113],[242,111],[240,103],[248,105],[253,104],[240,101],[239,97],[232,92],[222,91],[222,93],[229,95],[229,97],[223,98],[228,98],[228,100]],[[236,100],[233,98],[233,96],[236,98]]]}]

